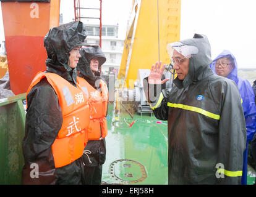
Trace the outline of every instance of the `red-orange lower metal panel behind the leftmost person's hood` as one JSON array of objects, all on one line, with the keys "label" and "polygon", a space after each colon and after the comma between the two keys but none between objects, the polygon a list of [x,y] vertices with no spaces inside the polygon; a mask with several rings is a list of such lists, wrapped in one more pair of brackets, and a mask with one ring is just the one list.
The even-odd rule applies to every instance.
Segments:
[{"label": "red-orange lower metal panel behind the leftmost person's hood", "polygon": [[35,74],[46,70],[43,36],[6,36],[6,51],[11,89],[14,94],[27,92]]}]

